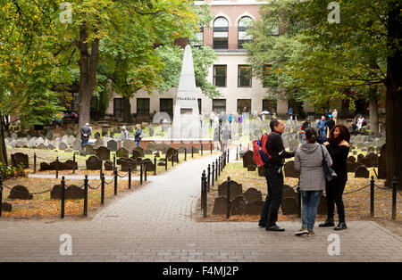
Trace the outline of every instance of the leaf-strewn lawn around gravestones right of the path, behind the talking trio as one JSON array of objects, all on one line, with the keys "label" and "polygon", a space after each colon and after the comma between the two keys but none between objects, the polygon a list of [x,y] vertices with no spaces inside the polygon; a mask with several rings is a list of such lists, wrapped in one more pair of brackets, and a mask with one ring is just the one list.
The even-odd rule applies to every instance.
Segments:
[{"label": "leaf-strewn lawn around gravestones right of the path, behind the talking trio", "polygon": [[[370,168],[370,177],[374,175],[373,168]],[[242,162],[230,162],[226,165],[226,168],[221,172],[221,176],[218,177],[218,184],[211,186],[211,191],[208,193],[207,200],[207,210],[208,210],[208,218],[206,220],[211,221],[225,221],[226,216],[222,215],[213,215],[212,212],[214,210],[214,199],[218,196],[218,185],[222,184],[223,181],[226,181],[227,178],[230,177],[230,180],[234,180],[239,184],[243,185],[243,193],[247,191],[248,188],[254,187],[259,190],[263,194],[263,200],[265,200],[265,196],[267,194],[267,185],[265,177],[259,177],[257,169],[255,171],[247,171],[247,169],[243,168]],[[384,187],[384,181],[380,179],[375,179],[375,184],[381,187]],[[297,185],[297,178],[293,177],[285,177],[285,185],[294,186]],[[374,218],[370,218],[370,178],[355,178],[354,173],[348,173],[348,183],[345,188],[345,193],[349,193],[351,191],[357,190],[359,188],[364,187],[364,185],[369,185],[363,190],[353,193],[353,194],[344,194],[343,200],[345,203],[345,210],[348,220],[391,220],[392,214],[392,189],[380,189],[375,187],[374,190]],[[296,187],[294,188],[296,191]],[[397,198],[397,220],[400,221],[402,219],[402,202],[399,194]],[[336,210],[335,210],[336,211]],[[335,215],[336,216],[336,215]],[[259,216],[231,216],[229,220],[233,221],[258,221]],[[324,220],[326,216],[317,215],[317,220]],[[338,217],[335,217],[338,220]],[[300,220],[297,218],[297,215],[287,215],[284,216],[280,213],[278,217],[279,221],[285,220]],[[402,234],[402,230],[399,231]]]}]

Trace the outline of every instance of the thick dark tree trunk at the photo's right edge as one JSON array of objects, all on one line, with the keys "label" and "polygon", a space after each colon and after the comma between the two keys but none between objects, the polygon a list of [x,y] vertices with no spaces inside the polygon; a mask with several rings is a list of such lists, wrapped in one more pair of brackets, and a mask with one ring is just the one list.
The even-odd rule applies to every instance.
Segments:
[{"label": "thick dark tree trunk at the photo's right edge", "polygon": [[387,94],[386,94],[386,152],[387,185],[392,185],[392,178],[397,177],[398,188],[402,188],[402,52],[398,42],[402,39],[402,22],[400,11],[402,4],[390,1],[388,18],[388,44],[393,53],[387,58]]}]

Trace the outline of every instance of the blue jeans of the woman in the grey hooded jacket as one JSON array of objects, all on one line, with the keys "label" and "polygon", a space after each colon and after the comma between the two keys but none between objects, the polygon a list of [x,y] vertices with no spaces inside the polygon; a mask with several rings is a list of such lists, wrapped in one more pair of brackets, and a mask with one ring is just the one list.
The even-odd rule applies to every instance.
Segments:
[{"label": "blue jeans of the woman in the grey hooded jacket", "polygon": [[317,215],[318,203],[320,203],[322,191],[301,191],[302,198],[302,227],[312,231],[315,215]]}]

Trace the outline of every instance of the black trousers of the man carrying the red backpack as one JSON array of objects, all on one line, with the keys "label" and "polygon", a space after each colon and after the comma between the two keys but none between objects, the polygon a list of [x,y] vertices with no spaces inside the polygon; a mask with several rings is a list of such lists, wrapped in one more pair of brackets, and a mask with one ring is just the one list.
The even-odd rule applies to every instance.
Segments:
[{"label": "black trousers of the man carrying the red backpack", "polygon": [[[280,172],[278,172],[280,170]],[[259,224],[261,226],[273,226],[278,220],[278,210],[283,198],[283,173],[280,165],[264,167],[264,175],[268,185]]]}]

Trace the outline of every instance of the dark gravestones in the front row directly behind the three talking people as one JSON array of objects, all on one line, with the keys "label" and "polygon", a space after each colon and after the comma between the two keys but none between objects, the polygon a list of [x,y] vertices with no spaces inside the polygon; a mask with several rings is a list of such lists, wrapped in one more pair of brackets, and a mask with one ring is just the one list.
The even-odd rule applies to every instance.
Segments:
[{"label": "dark gravestones in the front row directly behind the three talking people", "polygon": [[[214,215],[224,215],[227,210],[227,182],[218,186],[218,197],[214,200]],[[242,185],[230,181],[230,215],[260,215],[263,209],[263,199],[260,191],[249,188],[243,194]],[[281,203],[283,215],[294,215],[298,213],[299,205],[297,193],[289,185],[283,187],[283,201]],[[327,201],[322,195],[317,213],[327,214]]]}]

